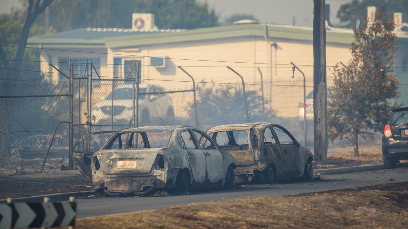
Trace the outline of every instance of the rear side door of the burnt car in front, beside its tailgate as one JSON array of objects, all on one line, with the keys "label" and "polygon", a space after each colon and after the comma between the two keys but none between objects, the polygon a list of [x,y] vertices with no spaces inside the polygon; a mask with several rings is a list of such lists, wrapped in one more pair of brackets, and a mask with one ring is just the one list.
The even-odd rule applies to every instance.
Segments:
[{"label": "rear side door of the burnt car in front, beside its tailgate", "polygon": [[284,179],[286,177],[285,156],[277,141],[277,136],[272,131],[270,126],[266,126],[263,132],[263,144],[266,152],[261,152],[263,158],[272,161],[276,168],[276,179]]}]

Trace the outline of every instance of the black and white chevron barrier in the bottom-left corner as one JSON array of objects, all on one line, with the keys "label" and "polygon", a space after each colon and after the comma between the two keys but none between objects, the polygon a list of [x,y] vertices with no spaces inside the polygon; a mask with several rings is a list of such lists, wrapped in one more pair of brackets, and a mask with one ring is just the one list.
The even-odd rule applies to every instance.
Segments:
[{"label": "black and white chevron barrier in the bottom-left corner", "polygon": [[75,225],[77,203],[74,197],[69,202],[50,202],[45,197],[41,203],[0,203],[0,228],[62,227]]}]

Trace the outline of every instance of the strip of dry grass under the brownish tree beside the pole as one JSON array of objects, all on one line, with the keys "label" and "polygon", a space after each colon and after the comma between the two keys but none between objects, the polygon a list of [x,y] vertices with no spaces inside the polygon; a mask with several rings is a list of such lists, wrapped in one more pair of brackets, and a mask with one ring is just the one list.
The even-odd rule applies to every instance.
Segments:
[{"label": "strip of dry grass under the brownish tree beside the pole", "polygon": [[382,164],[382,150],[360,150],[359,156],[354,156],[354,151],[331,153],[327,155],[326,163],[314,162],[315,169],[354,167],[369,164]]}]

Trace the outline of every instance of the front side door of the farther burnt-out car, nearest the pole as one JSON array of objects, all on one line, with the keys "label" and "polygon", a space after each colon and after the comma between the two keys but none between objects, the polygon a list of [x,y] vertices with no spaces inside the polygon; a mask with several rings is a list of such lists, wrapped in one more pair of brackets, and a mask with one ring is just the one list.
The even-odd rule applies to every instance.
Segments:
[{"label": "front side door of the farther burnt-out car, nearest the pole", "polygon": [[296,139],[288,130],[279,125],[271,125],[285,157],[286,178],[303,173],[303,156]]}]

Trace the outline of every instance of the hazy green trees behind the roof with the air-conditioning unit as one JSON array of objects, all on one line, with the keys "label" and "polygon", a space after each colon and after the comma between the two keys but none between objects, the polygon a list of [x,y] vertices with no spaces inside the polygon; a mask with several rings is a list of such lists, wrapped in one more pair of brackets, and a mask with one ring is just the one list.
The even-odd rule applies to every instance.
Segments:
[{"label": "hazy green trees behind the roof with the air-conditioning unit", "polygon": [[[154,14],[158,28],[218,25],[214,10],[195,0],[55,0],[49,6],[49,24],[59,32],[87,27],[131,28],[132,13]],[[35,23],[45,25],[45,14]]]}]

